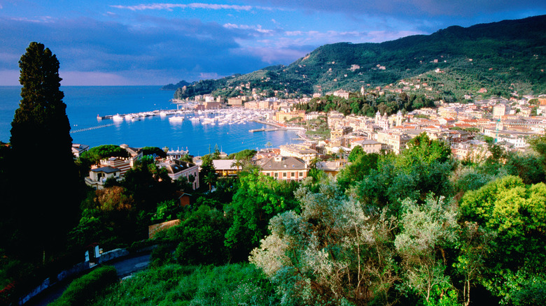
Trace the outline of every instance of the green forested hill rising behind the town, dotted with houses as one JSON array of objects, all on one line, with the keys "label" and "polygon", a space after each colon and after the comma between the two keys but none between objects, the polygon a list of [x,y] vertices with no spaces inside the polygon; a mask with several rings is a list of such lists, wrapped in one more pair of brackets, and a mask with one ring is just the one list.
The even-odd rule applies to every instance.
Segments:
[{"label": "green forested hill rising behind the town, dotted with houses", "polygon": [[[202,80],[176,90],[197,94],[297,97],[336,89],[356,91],[411,78],[428,80],[428,93],[507,96],[546,93],[546,15],[472,27],[448,27],[384,43],[323,45],[289,66],[269,66],[245,75]],[[240,86],[244,85],[244,86]],[[400,85],[402,86],[402,85]],[[430,88],[431,87],[431,88]]]}]

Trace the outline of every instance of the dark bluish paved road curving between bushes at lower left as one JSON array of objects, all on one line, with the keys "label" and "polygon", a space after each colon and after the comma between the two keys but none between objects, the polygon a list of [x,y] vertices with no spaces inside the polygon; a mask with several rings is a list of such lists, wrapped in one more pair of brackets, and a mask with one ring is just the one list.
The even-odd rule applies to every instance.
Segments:
[{"label": "dark bluish paved road curving between bushes at lower left", "polygon": [[[114,261],[111,261],[109,263],[105,263],[107,265],[113,265],[116,270],[118,270],[118,277],[126,277],[127,275],[131,275],[133,272],[137,272],[139,270],[143,270],[146,267],[148,267],[148,263],[150,262],[150,254],[143,254],[139,256],[130,256],[127,258],[120,258],[116,259]],[[59,296],[62,295],[66,287],[70,284],[70,281],[67,282],[59,282],[58,284],[55,284],[51,286],[50,288],[46,289],[42,293],[38,294],[38,296],[35,296],[31,300],[29,300],[28,303],[25,304],[25,306],[45,306],[49,303],[53,302],[55,299],[59,298]]]}]

